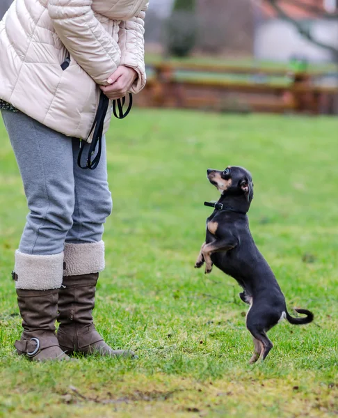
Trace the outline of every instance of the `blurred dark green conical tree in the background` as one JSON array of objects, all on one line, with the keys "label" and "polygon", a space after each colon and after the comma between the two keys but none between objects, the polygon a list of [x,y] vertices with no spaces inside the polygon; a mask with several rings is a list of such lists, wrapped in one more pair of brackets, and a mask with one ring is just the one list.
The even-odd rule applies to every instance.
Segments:
[{"label": "blurred dark green conical tree in the background", "polygon": [[167,53],[173,56],[188,56],[195,47],[197,35],[195,0],[175,0],[172,14],[166,22]]}]

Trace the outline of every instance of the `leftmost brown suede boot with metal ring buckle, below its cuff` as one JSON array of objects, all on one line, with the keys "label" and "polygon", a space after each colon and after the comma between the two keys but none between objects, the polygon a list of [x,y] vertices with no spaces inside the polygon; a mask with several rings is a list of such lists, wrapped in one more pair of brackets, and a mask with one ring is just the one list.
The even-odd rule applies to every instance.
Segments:
[{"label": "leftmost brown suede boot with metal ring buckle, below its cuff", "polygon": [[58,289],[17,289],[17,302],[24,328],[21,339],[15,341],[17,353],[34,361],[70,360],[61,350],[55,334]]}]

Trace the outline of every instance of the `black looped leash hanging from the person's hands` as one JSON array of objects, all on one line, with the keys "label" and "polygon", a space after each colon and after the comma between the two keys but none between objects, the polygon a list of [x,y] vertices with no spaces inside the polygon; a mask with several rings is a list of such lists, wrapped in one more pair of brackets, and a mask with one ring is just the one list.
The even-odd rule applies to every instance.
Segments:
[{"label": "black looped leash hanging from the person's hands", "polygon": [[[126,116],[128,116],[131,110],[131,107],[133,105],[133,98],[131,96],[131,93],[129,93],[128,108],[123,113],[123,105],[125,101],[126,101],[125,98],[122,98],[122,102],[121,102],[121,99],[113,100],[113,114],[115,118],[123,119]],[[116,103],[118,104],[118,113],[116,112]],[[103,130],[104,130],[104,119],[106,118],[108,105],[109,105],[109,99],[102,91],[101,95],[99,96],[99,106],[97,107],[95,119],[94,119],[94,122],[92,123],[92,127],[90,128],[90,132],[88,135],[88,138],[89,138],[90,134],[92,134],[92,131],[94,131],[94,133],[92,134],[92,142],[90,143],[90,147],[88,150],[86,165],[81,165],[81,157],[82,157],[83,149],[85,147],[82,146],[82,141],[80,142],[80,150],[79,150],[79,155],[77,157],[77,164],[83,170],[86,170],[86,169],[95,170],[99,164],[99,160],[100,160],[101,152],[102,152],[102,136],[103,136]],[[97,144],[98,144],[98,150],[97,150],[97,155],[95,155]],[[95,157],[93,157],[93,155],[95,155]]]}]

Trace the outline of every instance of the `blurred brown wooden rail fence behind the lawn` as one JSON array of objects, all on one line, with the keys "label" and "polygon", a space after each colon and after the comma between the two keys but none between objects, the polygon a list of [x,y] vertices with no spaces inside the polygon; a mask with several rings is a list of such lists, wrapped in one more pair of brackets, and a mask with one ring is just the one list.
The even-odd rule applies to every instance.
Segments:
[{"label": "blurred brown wooden rail fence behind the lawn", "polygon": [[[148,73],[145,90],[136,96],[141,107],[337,113],[338,86],[318,83],[328,77],[325,72],[159,63],[150,66]],[[331,77],[336,79],[337,74]]]}]

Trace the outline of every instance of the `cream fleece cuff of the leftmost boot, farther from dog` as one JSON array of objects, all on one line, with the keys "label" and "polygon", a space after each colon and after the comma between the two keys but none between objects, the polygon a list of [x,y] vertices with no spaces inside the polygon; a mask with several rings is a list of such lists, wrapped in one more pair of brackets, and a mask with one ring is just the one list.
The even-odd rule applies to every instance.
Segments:
[{"label": "cream fleece cuff of the leftmost boot, farther from dog", "polygon": [[47,291],[60,288],[63,281],[63,252],[35,256],[17,250],[12,276],[17,289]]}]

